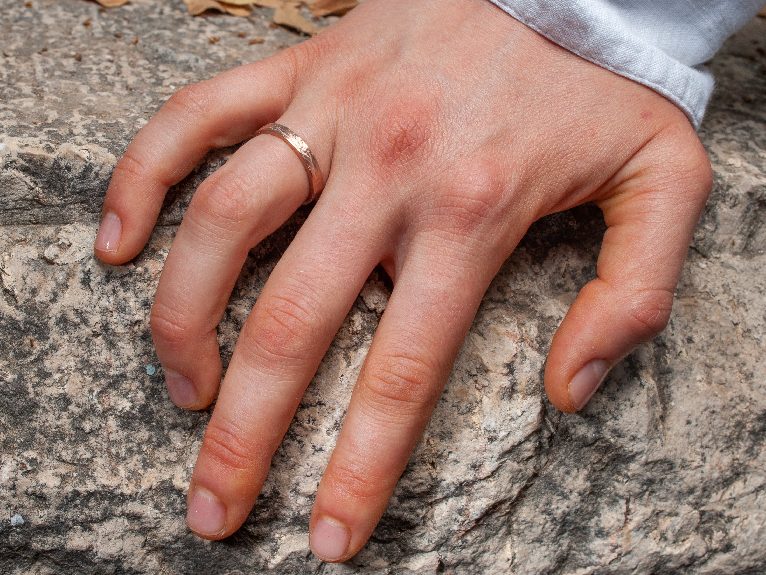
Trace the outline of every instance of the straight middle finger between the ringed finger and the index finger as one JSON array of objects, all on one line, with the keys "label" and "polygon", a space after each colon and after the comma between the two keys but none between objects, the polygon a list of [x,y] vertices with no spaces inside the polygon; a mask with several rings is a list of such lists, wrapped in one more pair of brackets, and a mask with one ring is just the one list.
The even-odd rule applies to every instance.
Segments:
[{"label": "straight middle finger between the ringed finger and the index finger", "polygon": [[221,539],[250,513],[274,451],[332,337],[380,260],[370,222],[316,205],[244,325],[195,464],[187,523]]}]

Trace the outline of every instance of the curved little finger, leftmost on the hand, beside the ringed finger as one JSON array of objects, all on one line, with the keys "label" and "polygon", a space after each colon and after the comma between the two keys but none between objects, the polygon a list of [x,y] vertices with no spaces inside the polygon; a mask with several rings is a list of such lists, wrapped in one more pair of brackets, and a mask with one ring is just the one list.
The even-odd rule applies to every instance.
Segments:
[{"label": "curved little finger, leftmost on the hand, beside the ringed finger", "polygon": [[152,232],[169,186],[209,149],[241,142],[280,117],[293,84],[289,62],[269,58],[173,94],[114,168],[95,242],[100,259],[121,264],[134,258]]}]

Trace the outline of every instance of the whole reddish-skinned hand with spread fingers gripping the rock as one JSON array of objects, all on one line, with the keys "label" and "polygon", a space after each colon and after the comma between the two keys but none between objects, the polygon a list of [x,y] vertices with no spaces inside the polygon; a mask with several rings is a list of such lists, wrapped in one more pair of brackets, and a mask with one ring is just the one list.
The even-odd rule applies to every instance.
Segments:
[{"label": "whole reddish-skinned hand with spread fingers gripping the rock", "polygon": [[[179,90],[114,170],[97,255],[135,257],[169,186],[208,149],[273,121],[309,143],[326,188],[237,341],[187,522],[206,539],[240,527],[380,262],[394,291],[309,524],[314,553],[340,561],[375,528],[484,291],[529,225],[594,201],[608,226],[598,278],[558,328],[545,370],[553,405],[574,412],[665,327],[712,176],[675,105],[486,0],[366,0],[316,38]],[[201,409],[218,393],[216,325],[237,274],[307,192],[303,165],[269,135],[199,186],[152,308],[178,406]]]}]

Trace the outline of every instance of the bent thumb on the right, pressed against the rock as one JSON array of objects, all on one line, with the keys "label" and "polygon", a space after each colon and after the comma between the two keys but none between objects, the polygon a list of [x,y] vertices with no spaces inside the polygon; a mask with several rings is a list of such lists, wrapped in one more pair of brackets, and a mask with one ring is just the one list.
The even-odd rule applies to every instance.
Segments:
[{"label": "bent thumb on the right, pressed against the rock", "polygon": [[608,226],[598,277],[558,327],[545,366],[545,391],[564,412],[582,409],[617,362],[665,329],[712,172],[696,135],[679,128],[608,186],[597,202]]}]

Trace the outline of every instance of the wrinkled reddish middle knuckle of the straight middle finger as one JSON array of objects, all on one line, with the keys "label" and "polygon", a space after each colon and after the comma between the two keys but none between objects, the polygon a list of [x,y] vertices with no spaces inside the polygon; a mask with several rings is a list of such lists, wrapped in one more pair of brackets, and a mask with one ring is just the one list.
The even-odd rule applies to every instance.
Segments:
[{"label": "wrinkled reddish middle knuckle of the straight middle finger", "polygon": [[243,329],[245,353],[276,362],[305,359],[315,344],[315,310],[310,297],[287,289],[259,300]]}]

